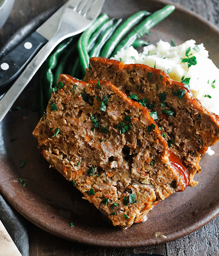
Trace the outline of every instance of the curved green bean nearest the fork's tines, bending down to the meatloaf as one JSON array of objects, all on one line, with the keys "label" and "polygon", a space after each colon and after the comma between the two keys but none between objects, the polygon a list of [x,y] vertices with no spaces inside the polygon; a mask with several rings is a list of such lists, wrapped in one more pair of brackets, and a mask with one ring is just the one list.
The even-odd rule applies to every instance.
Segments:
[{"label": "curved green bean nearest the fork's tines, bending down to the meatloaf", "polygon": [[89,64],[89,55],[88,55],[88,41],[91,35],[95,32],[95,30],[100,27],[105,20],[107,20],[109,17],[107,14],[102,14],[99,18],[96,19],[96,21],[89,27],[89,29],[85,30],[81,37],[78,40],[77,48],[78,53],[80,56],[80,64],[82,67],[82,71],[85,74],[86,68],[88,68]]}]

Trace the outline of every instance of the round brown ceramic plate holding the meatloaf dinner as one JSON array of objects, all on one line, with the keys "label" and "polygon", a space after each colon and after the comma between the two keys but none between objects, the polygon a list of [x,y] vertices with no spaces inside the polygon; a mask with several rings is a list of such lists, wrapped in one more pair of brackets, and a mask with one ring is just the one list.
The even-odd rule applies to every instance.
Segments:
[{"label": "round brown ceramic plate holding the meatloaf dinner", "polygon": [[[127,18],[139,10],[155,11],[166,2],[157,0],[106,0],[103,12]],[[150,42],[174,39],[176,44],[187,39],[203,42],[210,57],[219,67],[219,31],[192,12],[177,7],[166,20],[151,30]],[[101,213],[83,200],[82,195],[56,170],[49,169],[37,149],[32,131],[39,121],[31,106],[37,105],[35,77],[12,110],[0,124],[0,191],[25,218],[42,229],[70,241],[114,248],[146,246],[174,240],[205,225],[219,213],[219,144],[212,147],[215,155],[201,159],[202,172],[195,178],[199,184],[175,193],[160,202],[145,223],[126,230],[111,226]],[[11,140],[16,139],[11,142]],[[27,163],[19,168],[21,160]],[[22,178],[22,182],[18,181]],[[23,182],[27,185],[23,187]],[[74,227],[69,223],[73,222]],[[166,240],[155,238],[161,232]]]}]

